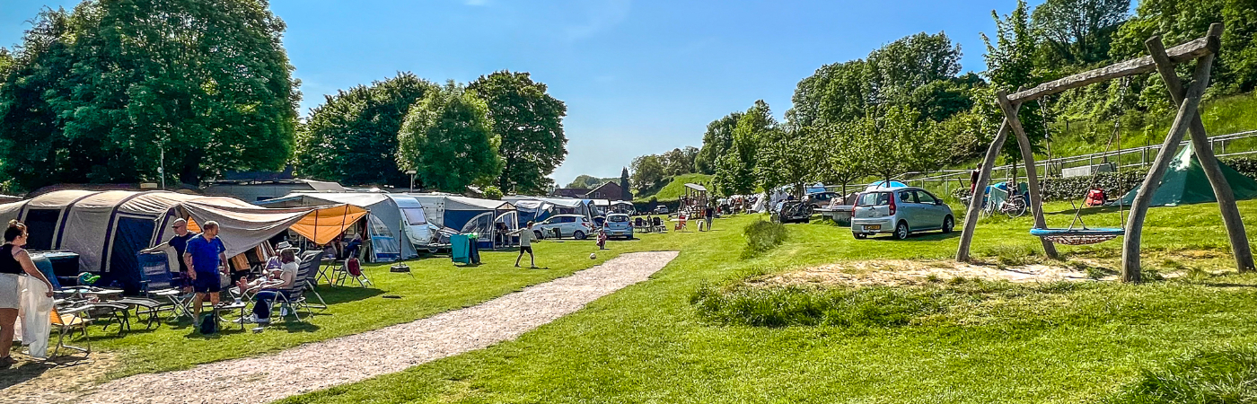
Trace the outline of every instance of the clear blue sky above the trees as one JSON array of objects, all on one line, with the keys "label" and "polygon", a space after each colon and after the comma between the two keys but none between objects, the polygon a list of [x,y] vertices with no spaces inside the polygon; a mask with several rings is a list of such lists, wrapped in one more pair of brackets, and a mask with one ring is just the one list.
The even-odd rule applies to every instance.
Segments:
[{"label": "clear blue sky above the trees", "polygon": [[[0,45],[43,6],[0,0]],[[1031,1],[1037,4],[1040,1]],[[300,115],[337,89],[410,70],[469,82],[530,72],[567,103],[567,161],[552,175],[618,176],[644,154],[700,146],[706,123],[764,99],[778,117],[822,64],[862,58],[920,31],[945,31],[964,70],[984,69],[979,33],[1014,0],[505,1],[274,0],[302,81]]]}]

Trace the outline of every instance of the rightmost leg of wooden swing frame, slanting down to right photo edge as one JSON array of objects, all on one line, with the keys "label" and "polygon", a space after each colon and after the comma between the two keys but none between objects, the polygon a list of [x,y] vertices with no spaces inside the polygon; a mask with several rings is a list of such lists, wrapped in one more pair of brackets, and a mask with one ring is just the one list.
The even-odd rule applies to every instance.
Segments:
[{"label": "rightmost leg of wooden swing frame, slanting down to right photo edge", "polygon": [[[1222,35],[1222,24],[1210,25],[1209,35]],[[1165,88],[1170,92],[1170,99],[1177,104],[1182,104],[1183,83],[1174,72],[1173,62],[1165,55],[1165,45],[1161,44],[1160,36],[1149,38],[1144,45],[1148,47],[1153,60],[1156,60],[1156,70],[1165,81]],[[1207,59],[1212,58],[1213,54],[1200,57],[1200,63],[1209,63]],[[1218,209],[1222,210],[1222,223],[1227,228],[1227,235],[1231,238],[1231,250],[1236,255],[1236,267],[1239,272],[1253,271],[1253,254],[1248,245],[1248,234],[1244,233],[1244,222],[1239,218],[1239,208],[1236,205],[1236,194],[1231,190],[1231,184],[1227,182],[1227,177],[1222,174],[1222,167],[1218,166],[1218,159],[1213,154],[1213,145],[1209,142],[1209,135],[1204,131],[1204,122],[1200,121],[1199,112],[1192,116],[1188,131],[1192,133],[1192,147],[1195,150],[1195,157],[1200,161],[1204,176],[1209,179],[1209,185],[1213,186],[1213,195],[1218,199]]]}]

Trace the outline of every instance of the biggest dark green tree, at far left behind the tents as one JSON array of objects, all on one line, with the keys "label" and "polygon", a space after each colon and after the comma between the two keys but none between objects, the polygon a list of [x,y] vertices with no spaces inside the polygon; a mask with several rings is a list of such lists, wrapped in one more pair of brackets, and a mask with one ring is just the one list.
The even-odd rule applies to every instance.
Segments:
[{"label": "biggest dark green tree, at far left behind the tents", "polygon": [[279,169],[299,99],[284,23],[256,0],[99,0],[45,10],[0,79],[0,171],[55,182],[197,184]]}]

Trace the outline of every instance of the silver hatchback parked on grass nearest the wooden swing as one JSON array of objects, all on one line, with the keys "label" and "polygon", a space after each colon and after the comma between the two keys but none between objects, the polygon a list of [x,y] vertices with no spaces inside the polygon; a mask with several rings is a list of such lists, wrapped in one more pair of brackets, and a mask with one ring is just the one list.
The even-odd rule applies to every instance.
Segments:
[{"label": "silver hatchback parked on grass nearest the wooden swing", "polygon": [[915,186],[896,186],[866,191],[856,198],[851,214],[851,234],[857,239],[874,234],[892,234],[905,239],[914,232],[952,233],[955,216],[952,208],[929,191]]}]

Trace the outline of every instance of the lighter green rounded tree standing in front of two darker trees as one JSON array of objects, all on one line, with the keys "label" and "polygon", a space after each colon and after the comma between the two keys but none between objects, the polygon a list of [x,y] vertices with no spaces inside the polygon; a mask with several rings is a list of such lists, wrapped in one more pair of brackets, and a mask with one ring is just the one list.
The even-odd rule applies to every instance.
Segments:
[{"label": "lighter green rounded tree standing in front of two darker trees", "polygon": [[425,188],[463,193],[502,174],[489,107],[453,81],[429,91],[397,132],[397,165]]}]

